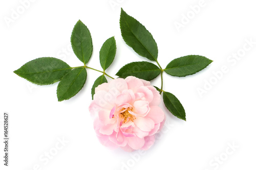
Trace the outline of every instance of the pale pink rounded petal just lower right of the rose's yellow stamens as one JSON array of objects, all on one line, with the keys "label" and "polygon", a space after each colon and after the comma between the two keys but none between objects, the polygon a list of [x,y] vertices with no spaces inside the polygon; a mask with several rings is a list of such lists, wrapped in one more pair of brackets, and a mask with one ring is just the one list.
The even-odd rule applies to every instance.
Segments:
[{"label": "pale pink rounded petal just lower right of the rose's yellow stamens", "polygon": [[154,129],[155,123],[151,118],[137,116],[134,124],[142,131],[150,132]]}]

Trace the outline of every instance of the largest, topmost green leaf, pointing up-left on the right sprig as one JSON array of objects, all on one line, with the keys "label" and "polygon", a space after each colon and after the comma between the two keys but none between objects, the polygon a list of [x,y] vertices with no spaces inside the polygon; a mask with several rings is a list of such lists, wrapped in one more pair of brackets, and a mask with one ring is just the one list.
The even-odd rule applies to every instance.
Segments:
[{"label": "largest, topmost green leaf, pointing up-left on the right sprig", "polygon": [[150,32],[135,18],[129,16],[121,8],[120,29],[123,40],[142,57],[156,61],[158,56],[157,43]]}]

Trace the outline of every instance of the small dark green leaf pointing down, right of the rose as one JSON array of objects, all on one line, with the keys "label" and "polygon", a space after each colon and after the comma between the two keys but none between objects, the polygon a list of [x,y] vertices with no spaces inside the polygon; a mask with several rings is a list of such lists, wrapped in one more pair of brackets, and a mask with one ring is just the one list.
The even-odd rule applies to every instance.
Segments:
[{"label": "small dark green leaf pointing down, right of the rose", "polygon": [[176,117],[186,121],[186,113],[180,101],[172,93],[163,91],[163,102],[166,108]]}]

